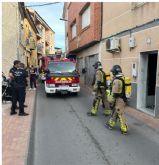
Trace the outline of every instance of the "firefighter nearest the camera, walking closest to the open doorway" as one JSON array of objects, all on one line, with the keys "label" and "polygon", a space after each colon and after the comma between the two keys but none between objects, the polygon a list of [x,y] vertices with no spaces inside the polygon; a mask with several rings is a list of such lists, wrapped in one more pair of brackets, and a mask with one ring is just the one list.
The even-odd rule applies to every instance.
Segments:
[{"label": "firefighter nearest the camera, walking closest to the open doorway", "polygon": [[117,119],[119,119],[121,133],[127,134],[128,126],[124,118],[124,109],[126,105],[124,76],[119,65],[114,65],[111,72],[113,74],[112,102],[114,103],[114,106],[111,118],[106,125],[109,129],[113,129],[116,125]]}]

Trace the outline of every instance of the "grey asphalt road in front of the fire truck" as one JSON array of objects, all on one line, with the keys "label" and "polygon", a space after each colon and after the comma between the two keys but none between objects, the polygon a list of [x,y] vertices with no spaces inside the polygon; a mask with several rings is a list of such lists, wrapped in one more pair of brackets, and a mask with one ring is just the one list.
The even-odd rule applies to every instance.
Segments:
[{"label": "grey asphalt road in front of the fire truck", "polygon": [[86,115],[92,99],[84,88],[49,98],[38,88],[33,165],[159,165],[158,130],[129,116],[129,135],[108,130],[102,107],[97,117]]}]

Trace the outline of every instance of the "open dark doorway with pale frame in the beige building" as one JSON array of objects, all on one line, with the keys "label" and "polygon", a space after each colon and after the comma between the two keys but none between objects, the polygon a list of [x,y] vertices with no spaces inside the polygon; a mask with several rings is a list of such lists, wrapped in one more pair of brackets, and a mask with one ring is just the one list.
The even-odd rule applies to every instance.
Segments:
[{"label": "open dark doorway with pale frame in the beige building", "polygon": [[139,59],[137,108],[151,115],[155,113],[158,52],[143,52]]}]

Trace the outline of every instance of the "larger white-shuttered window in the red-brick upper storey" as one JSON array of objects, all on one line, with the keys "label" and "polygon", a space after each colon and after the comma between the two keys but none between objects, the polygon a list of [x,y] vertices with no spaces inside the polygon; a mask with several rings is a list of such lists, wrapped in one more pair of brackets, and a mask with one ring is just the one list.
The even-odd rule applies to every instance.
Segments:
[{"label": "larger white-shuttered window in the red-brick upper storey", "polygon": [[84,29],[85,27],[90,25],[90,17],[91,17],[90,6],[88,6],[86,10],[84,10],[81,17],[82,17],[82,29]]}]

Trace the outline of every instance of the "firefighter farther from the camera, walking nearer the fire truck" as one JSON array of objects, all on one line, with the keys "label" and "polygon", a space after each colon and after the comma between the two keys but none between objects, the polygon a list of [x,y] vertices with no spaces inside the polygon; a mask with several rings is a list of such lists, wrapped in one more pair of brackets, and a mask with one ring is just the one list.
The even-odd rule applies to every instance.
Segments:
[{"label": "firefighter farther from the camera, walking nearer the fire truck", "polygon": [[97,61],[93,67],[96,70],[94,80],[93,80],[93,91],[95,92],[95,98],[93,100],[93,107],[90,112],[87,112],[89,116],[96,116],[100,101],[102,100],[105,110],[105,115],[110,115],[111,110],[109,108],[109,103],[106,98],[106,79],[103,67],[100,61]]}]

